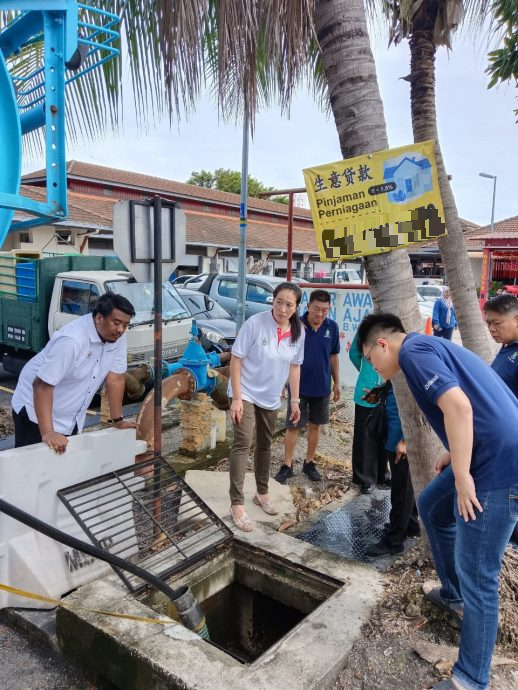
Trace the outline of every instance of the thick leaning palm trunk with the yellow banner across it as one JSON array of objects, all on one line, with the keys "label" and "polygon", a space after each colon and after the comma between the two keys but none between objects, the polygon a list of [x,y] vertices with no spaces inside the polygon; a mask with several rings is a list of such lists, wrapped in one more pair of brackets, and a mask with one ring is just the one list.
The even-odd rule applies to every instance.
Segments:
[{"label": "thick leaning palm trunk with the yellow banner across it", "polygon": [[[318,0],[315,27],[344,158],[388,148],[383,103],[367,32],[363,0]],[[365,258],[376,311],[398,314],[407,330],[420,330],[412,267],[406,249]],[[433,476],[440,444],[404,378],[394,381],[416,494]]]}]

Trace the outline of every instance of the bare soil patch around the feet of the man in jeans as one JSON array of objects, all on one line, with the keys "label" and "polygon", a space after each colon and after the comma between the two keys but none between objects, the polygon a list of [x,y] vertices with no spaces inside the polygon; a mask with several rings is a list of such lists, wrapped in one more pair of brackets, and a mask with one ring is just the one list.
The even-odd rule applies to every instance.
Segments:
[{"label": "bare soil patch around the feet of the man in jeans", "polygon": [[[499,642],[495,649],[495,655],[511,661],[518,659],[513,594],[517,561],[516,551],[509,548],[501,577]],[[507,573],[512,573],[510,581]],[[422,594],[423,583],[436,578],[423,544],[395,561],[387,575],[383,599],[363,627],[334,690],[419,690],[451,675],[450,657],[456,656],[452,648],[459,643],[459,626]],[[415,651],[430,644],[444,646],[448,652],[438,655],[433,664]],[[518,665],[493,668],[491,689],[518,690],[517,669]]]}]

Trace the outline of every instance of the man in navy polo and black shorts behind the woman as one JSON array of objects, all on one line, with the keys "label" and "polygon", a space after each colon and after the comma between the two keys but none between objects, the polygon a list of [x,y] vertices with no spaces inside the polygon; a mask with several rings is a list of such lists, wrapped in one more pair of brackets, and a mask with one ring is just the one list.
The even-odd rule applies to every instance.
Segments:
[{"label": "man in navy polo and black shorts behind the woman", "polygon": [[338,324],[328,318],[331,295],[326,290],[313,290],[309,296],[307,312],[302,316],[306,329],[304,362],[300,368],[300,420],[290,421],[291,406],[288,391],[286,436],[284,438],[284,464],[275,475],[280,484],[293,477],[293,454],[299,429],[308,427],[308,447],[302,471],[312,481],[322,478],[315,466],[315,452],[320,438],[320,426],[329,422],[329,396],[331,378],[332,395],[340,398],[340,336]]}]

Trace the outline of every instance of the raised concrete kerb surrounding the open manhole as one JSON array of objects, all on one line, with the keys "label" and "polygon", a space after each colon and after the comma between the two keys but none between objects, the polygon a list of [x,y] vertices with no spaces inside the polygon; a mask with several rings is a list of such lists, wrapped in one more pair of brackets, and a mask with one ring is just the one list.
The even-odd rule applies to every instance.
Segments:
[{"label": "raised concrete kerb surrounding the open manhole", "polygon": [[[384,576],[260,525],[240,535],[240,541],[343,585],[249,665],[238,663],[178,624],[147,625],[84,609],[58,611],[57,633],[64,654],[125,690],[330,687],[382,593]],[[115,576],[81,587],[66,601],[96,610],[156,615],[129,595]]]}]

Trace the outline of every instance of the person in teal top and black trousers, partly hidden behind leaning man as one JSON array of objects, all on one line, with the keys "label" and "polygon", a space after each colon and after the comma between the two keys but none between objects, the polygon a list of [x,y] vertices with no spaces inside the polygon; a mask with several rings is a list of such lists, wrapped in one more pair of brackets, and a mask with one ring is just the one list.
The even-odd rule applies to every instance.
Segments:
[{"label": "person in teal top and black trousers, partly hidden behind leaning man", "polygon": [[359,372],[354,389],[353,482],[360,485],[362,494],[371,494],[376,484],[387,482],[388,472],[383,439],[372,439],[365,433],[365,421],[376,405],[368,403],[364,396],[383,380],[361,354],[357,336],[351,344],[349,359]]}]

